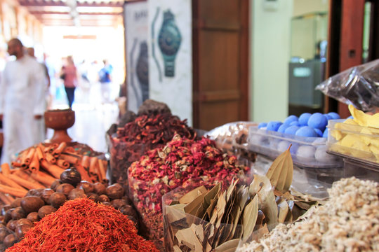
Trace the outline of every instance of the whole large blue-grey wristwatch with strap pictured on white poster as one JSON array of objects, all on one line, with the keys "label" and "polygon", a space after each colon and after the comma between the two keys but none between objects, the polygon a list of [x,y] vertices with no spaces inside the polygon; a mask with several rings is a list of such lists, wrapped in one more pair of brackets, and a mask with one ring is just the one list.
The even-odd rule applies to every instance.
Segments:
[{"label": "whole large blue-grey wristwatch with strap pictured on white poster", "polygon": [[164,12],[164,21],[158,34],[158,45],[164,57],[164,75],[175,76],[175,57],[178,53],[182,36],[175,24],[173,13],[170,10]]}]

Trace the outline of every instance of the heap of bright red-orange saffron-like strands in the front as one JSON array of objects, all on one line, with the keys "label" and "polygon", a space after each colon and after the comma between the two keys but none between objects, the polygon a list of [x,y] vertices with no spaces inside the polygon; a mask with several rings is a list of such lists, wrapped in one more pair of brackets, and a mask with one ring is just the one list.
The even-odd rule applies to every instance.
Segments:
[{"label": "heap of bright red-orange saffron-like strands in the front", "polygon": [[24,239],[6,250],[158,251],[139,235],[132,221],[112,207],[78,198],[43,218]]}]

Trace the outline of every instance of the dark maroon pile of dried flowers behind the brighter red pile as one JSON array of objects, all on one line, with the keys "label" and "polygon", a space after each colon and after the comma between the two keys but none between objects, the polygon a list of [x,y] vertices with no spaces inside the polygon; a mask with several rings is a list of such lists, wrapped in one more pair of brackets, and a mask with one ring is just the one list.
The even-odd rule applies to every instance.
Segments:
[{"label": "dark maroon pile of dried flowers behind the brighter red pile", "polygon": [[196,132],[171,113],[138,116],[109,137],[112,183],[128,183],[128,167],[147,151],[164,146],[175,134],[195,139]]}]

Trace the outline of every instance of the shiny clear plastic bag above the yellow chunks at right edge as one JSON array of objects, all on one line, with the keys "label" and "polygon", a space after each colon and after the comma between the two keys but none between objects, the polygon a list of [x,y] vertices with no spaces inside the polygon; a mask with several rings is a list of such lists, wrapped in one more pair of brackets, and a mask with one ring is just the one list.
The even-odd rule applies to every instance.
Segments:
[{"label": "shiny clear plastic bag above the yellow chunks at right edge", "polygon": [[354,66],[317,85],[329,97],[352,104],[361,111],[379,107],[379,59]]}]

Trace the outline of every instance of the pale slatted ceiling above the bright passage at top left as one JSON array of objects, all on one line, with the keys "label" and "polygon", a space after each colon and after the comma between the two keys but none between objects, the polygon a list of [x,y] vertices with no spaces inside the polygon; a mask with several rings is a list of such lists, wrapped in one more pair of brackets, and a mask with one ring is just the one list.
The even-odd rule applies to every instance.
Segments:
[{"label": "pale slatted ceiling above the bright passage at top left", "polygon": [[18,0],[46,26],[107,27],[122,23],[122,0]]}]

